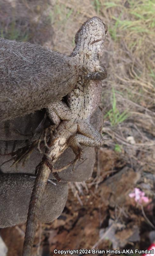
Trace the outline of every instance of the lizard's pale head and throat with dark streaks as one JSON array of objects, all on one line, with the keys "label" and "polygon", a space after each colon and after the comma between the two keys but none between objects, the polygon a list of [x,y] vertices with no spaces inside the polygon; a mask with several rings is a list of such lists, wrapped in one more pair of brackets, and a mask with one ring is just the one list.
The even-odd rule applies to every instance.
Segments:
[{"label": "lizard's pale head and throat with dark streaks", "polygon": [[92,54],[95,54],[98,58],[102,56],[107,31],[107,25],[100,18],[92,17],[87,20],[75,35],[76,46],[72,56],[77,53],[86,53],[88,58]]}]

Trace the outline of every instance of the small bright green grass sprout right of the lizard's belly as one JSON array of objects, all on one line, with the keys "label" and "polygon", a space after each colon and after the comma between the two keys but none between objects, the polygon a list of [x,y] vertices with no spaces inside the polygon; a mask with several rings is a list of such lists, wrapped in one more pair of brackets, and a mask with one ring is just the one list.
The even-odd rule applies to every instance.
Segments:
[{"label": "small bright green grass sprout right of the lizard's belly", "polygon": [[108,113],[104,116],[104,118],[109,117],[111,126],[115,126],[117,124],[122,123],[125,121],[129,113],[127,113],[127,110],[124,110],[122,113],[119,112],[119,110],[116,107],[116,95],[115,90],[112,87],[112,108],[108,111]]}]

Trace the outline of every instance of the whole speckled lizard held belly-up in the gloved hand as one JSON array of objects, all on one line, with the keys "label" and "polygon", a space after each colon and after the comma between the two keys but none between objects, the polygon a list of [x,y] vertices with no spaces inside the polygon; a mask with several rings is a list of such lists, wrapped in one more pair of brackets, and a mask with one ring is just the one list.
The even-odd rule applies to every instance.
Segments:
[{"label": "whole speckled lizard held belly-up in the gloved hand", "polygon": [[[91,24],[88,26],[88,23]],[[104,140],[101,134],[90,125],[89,121],[101,100],[102,84],[100,80],[107,77],[105,67],[101,66],[99,62],[107,30],[107,26],[97,17],[89,19],[82,25],[75,36],[75,43],[79,42],[78,44],[83,47],[81,61],[85,74],[81,76],[81,81],[76,84],[76,89],[67,94],[67,104],[60,101],[48,106],[49,116],[54,111],[62,121],[58,125],[57,132],[53,135],[47,153],[39,165],[29,205],[23,256],[30,256],[32,252],[37,215],[48,176],[51,171],[58,172],[67,167],[65,166],[60,170],[54,169],[54,163],[59,156],[67,147],[71,147],[76,156],[75,168],[77,160],[81,159],[81,145],[88,147],[103,145]],[[72,56],[76,55],[81,58],[81,53],[77,51],[77,48],[72,53]],[[93,61],[90,61],[90,56],[93,56],[95,67],[94,63],[91,63]]]}]

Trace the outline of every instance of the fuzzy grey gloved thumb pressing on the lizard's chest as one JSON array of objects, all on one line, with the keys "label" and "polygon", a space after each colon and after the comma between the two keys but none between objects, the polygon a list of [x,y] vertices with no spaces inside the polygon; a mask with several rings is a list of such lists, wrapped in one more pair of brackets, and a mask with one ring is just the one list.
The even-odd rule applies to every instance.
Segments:
[{"label": "fuzzy grey gloved thumb pressing on the lizard's chest", "polygon": [[70,92],[78,70],[71,57],[40,45],[0,38],[0,118],[47,107]]}]

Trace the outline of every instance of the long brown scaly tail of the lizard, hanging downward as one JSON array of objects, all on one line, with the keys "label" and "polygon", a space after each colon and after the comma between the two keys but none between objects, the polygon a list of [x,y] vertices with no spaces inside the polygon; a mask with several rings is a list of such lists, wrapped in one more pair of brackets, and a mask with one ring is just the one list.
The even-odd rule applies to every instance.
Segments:
[{"label": "long brown scaly tail of the lizard, hanging downward", "polygon": [[29,204],[22,256],[32,256],[32,247],[36,232],[38,212],[41,204],[42,195],[44,193],[46,182],[50,172],[51,171],[46,166],[46,164],[42,163],[34,183],[31,200]]}]

